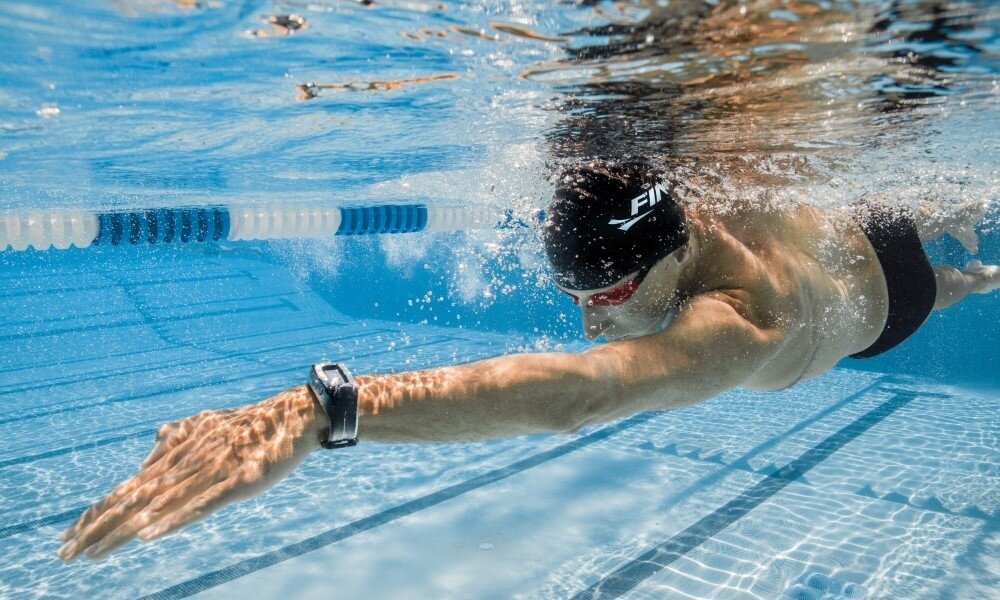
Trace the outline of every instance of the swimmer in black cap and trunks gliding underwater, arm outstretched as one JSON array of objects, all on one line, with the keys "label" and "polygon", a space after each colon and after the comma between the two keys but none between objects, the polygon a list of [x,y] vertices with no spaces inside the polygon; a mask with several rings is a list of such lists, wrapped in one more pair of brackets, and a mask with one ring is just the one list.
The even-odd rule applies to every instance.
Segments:
[{"label": "swimmer in black cap and trunks gliding underwater, arm outstretched", "polygon": [[[546,254],[586,337],[608,343],[357,377],[362,442],[573,432],[734,387],[780,390],[885,352],[933,309],[1000,287],[1000,268],[932,267],[921,246],[952,234],[975,249],[983,205],[716,210],[682,200],[682,188],[643,164],[568,170]],[[164,425],[142,470],[64,532],[59,556],[99,559],[263,492],[329,444],[328,414],[302,385]]]}]

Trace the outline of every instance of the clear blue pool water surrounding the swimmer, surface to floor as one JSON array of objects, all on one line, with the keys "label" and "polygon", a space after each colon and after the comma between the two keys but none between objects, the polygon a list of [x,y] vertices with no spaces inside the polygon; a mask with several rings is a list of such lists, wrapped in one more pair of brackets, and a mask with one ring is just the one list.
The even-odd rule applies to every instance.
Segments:
[{"label": "clear blue pool water surrounding the swimmer, surface to floor", "polygon": [[[997,16],[15,0],[0,213],[529,215],[553,165],[652,156],[709,199],[984,201],[996,264]],[[998,314],[1000,294],[974,297],[791,389],[572,435],[317,452],[176,535],[64,565],[59,532],[161,423],[263,399],[321,358],[371,373],[588,345],[530,228],[4,247],[0,597],[1000,597]]]}]

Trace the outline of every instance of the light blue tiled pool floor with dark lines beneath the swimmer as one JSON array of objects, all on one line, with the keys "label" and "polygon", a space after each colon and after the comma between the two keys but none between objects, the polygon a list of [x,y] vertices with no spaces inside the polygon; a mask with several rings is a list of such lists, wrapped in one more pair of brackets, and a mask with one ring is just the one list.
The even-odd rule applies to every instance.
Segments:
[{"label": "light blue tiled pool floor with dark lines beneath the swimmer", "polygon": [[846,369],[573,435],[317,452],[62,565],[59,532],[162,422],[324,357],[385,372],[530,340],[350,318],[253,255],[14,265],[0,322],[3,598],[1000,597],[1000,398]]}]

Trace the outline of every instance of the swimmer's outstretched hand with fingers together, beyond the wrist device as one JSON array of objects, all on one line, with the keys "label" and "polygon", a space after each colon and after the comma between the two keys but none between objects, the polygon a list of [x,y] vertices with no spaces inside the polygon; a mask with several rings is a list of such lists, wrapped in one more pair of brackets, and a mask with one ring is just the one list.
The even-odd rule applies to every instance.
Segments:
[{"label": "swimmer's outstretched hand with fingers together, beyond the wrist device", "polygon": [[107,556],[268,489],[319,447],[329,419],[305,386],[258,404],[207,410],[160,427],[142,470],[63,532],[59,557]]}]

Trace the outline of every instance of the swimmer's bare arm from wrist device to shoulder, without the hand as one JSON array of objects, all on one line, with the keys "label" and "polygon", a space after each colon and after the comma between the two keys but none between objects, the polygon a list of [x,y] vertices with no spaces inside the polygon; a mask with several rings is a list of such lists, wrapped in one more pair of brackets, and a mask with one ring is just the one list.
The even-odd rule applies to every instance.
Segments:
[{"label": "swimmer's bare arm from wrist device to shoulder, without the hand", "polygon": [[455,442],[571,432],[707,400],[743,384],[782,337],[753,325],[734,308],[738,301],[727,300],[696,298],[666,331],[581,354],[519,354],[360,377],[364,439]]}]

